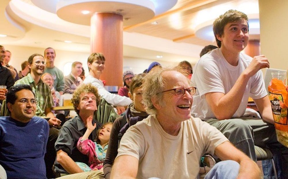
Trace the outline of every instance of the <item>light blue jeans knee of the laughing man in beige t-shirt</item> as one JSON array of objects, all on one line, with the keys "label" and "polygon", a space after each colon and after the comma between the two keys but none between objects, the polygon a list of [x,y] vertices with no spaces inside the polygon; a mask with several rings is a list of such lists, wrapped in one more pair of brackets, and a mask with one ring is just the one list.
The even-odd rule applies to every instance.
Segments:
[{"label": "light blue jeans knee of the laughing man in beige t-shirt", "polygon": [[236,161],[226,160],[218,162],[204,179],[233,179],[237,178],[240,165]]}]

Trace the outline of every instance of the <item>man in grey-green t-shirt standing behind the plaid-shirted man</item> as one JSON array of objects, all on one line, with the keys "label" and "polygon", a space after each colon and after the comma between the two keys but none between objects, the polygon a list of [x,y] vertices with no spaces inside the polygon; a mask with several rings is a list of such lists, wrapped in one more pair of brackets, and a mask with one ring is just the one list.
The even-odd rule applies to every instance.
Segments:
[{"label": "man in grey-green t-shirt standing behind the plaid-shirted man", "polygon": [[64,74],[63,72],[54,65],[54,60],[56,57],[56,52],[51,47],[48,47],[44,50],[44,57],[46,59],[46,68],[44,73],[52,74],[54,80],[54,88],[61,95],[64,93]]}]

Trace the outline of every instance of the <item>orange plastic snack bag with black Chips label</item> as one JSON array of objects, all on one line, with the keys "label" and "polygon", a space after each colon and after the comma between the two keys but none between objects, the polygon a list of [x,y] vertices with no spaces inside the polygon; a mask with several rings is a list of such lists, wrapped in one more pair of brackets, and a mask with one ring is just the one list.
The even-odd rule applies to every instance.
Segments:
[{"label": "orange plastic snack bag with black Chips label", "polygon": [[[288,88],[287,88],[288,89]],[[273,78],[268,86],[278,142],[288,148],[288,92],[283,81]]]}]

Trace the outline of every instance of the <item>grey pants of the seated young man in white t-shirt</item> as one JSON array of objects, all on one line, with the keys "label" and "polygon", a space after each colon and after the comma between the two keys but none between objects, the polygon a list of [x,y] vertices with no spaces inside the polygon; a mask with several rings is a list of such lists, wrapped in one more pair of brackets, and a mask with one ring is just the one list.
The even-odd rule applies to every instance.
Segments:
[{"label": "grey pants of the seated young man in white t-shirt", "polygon": [[254,161],[257,161],[254,145],[268,148],[273,154],[280,154],[282,171],[288,175],[288,148],[277,141],[273,124],[257,118],[209,119],[205,122],[220,130],[235,147]]}]

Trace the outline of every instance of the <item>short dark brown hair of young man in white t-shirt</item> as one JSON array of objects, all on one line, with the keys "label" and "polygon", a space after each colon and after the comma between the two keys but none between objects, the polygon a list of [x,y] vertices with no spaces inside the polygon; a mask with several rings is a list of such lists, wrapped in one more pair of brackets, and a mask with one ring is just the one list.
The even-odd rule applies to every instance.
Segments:
[{"label": "short dark brown hair of young man in white t-shirt", "polygon": [[[217,35],[222,37],[224,33],[224,27],[226,24],[231,22],[238,22],[242,19],[245,19],[248,24],[248,17],[246,14],[237,10],[228,10],[224,14],[220,15],[213,22],[213,32],[219,48],[221,47],[221,41],[217,39]],[[248,31],[249,31],[249,24],[248,24]]]}]

